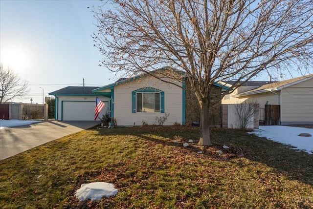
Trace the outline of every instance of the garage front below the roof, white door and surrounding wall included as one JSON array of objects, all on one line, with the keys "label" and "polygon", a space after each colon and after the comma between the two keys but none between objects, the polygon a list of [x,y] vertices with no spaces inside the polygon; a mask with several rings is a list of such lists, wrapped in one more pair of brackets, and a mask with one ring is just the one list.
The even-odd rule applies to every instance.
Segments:
[{"label": "garage front below the roof, white door and surrounding wall included", "polygon": [[[95,96],[57,96],[57,120],[75,120],[75,121],[92,121],[94,117]],[[110,99],[106,97],[99,97],[100,100],[110,104]],[[75,104],[88,103],[82,105],[83,110],[77,108]],[[72,108],[71,108],[72,107]],[[107,105],[99,116],[105,114],[110,107]]]}]

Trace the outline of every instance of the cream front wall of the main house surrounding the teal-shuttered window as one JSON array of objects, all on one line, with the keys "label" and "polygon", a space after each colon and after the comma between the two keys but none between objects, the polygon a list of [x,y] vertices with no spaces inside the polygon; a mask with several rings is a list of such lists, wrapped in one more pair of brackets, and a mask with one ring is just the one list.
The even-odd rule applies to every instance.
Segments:
[{"label": "cream front wall of the main house surrounding the teal-shuttered window", "polygon": [[132,113],[132,91],[143,87],[164,91],[165,113],[170,114],[164,125],[182,123],[182,89],[173,84],[160,82],[156,78],[144,77],[114,86],[114,118],[117,125],[142,125],[142,121],[152,125],[156,123],[156,117],[165,115],[165,113]]}]

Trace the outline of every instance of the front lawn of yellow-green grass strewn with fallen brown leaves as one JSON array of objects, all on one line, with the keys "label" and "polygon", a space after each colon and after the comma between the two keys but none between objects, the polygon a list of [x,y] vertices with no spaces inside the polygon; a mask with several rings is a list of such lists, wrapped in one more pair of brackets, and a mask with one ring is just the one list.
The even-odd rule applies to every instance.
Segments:
[{"label": "front lawn of yellow-green grass strewn with fallen brown leaves", "polygon": [[[244,130],[212,129],[204,149],[198,137],[188,126],[71,134],[0,161],[0,208],[313,208],[313,155]],[[96,181],[117,195],[75,199]]]}]

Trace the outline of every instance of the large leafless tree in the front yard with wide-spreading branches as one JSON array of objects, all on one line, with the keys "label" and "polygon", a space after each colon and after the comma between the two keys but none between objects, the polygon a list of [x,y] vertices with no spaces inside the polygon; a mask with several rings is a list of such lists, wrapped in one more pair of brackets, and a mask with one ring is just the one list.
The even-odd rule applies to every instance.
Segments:
[{"label": "large leafless tree in the front yard with wide-spreading branches", "polygon": [[235,89],[263,71],[312,67],[312,0],[108,0],[93,12],[100,65],[129,76],[164,65],[185,73],[201,107],[199,145],[211,145],[214,83]]}]

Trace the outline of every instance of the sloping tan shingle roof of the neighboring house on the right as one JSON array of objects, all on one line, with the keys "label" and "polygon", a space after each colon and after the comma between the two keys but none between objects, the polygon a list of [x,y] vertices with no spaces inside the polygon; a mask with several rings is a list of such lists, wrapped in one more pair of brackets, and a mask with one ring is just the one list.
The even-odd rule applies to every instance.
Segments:
[{"label": "sloping tan shingle roof of the neighboring house on the right", "polygon": [[298,77],[298,78],[292,78],[292,79],[285,80],[285,81],[265,84],[265,85],[262,85],[262,86],[260,86],[258,88],[255,88],[255,89],[252,89],[252,90],[249,90],[249,91],[245,91],[245,92],[239,94],[238,96],[246,96],[246,95],[251,95],[251,94],[264,93],[264,92],[268,92],[268,91],[281,90],[282,88],[286,88],[286,87],[294,85],[294,84],[299,84],[301,82],[310,80],[312,78],[313,78],[313,74],[310,74],[310,75],[307,75],[307,76],[301,76],[301,77]]}]

